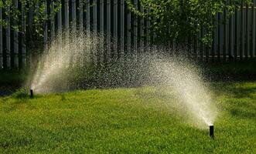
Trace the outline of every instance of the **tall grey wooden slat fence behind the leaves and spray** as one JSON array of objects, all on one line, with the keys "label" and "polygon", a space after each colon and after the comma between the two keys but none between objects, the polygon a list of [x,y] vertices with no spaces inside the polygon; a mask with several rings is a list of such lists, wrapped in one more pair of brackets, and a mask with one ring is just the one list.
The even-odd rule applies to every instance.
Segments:
[{"label": "tall grey wooden slat fence behind the leaves and spray", "polygon": [[[26,29],[32,27],[33,12],[29,10],[27,15],[23,11],[19,0],[13,0],[16,7],[22,12],[22,32],[15,32],[10,28],[0,25],[0,69],[19,69],[26,65],[29,54],[26,52],[25,34]],[[53,13],[53,3],[47,4],[45,12]],[[256,56],[255,48],[255,22],[256,22],[256,0],[252,5],[241,4],[241,9],[236,9],[234,15],[224,22],[227,11],[217,15],[217,29],[213,32],[213,45],[211,48],[200,43],[200,36],[191,39],[187,53],[189,56],[206,61],[226,61],[237,59],[249,59]],[[70,25],[77,25],[80,31],[104,32],[107,34],[107,42],[111,43],[111,37],[118,40],[118,48],[121,50],[136,49],[151,42],[150,38],[141,39],[148,31],[150,22],[145,19],[136,18],[128,9],[125,0],[62,0],[62,8],[57,12],[55,18],[45,22],[43,44],[47,45],[50,38]],[[140,7],[138,0],[134,0],[135,7]],[[87,10],[84,12],[84,10]],[[9,20],[8,16],[2,15],[0,8],[0,19]],[[12,24],[12,21],[10,22]],[[111,36],[111,37],[110,37]],[[175,44],[172,45],[173,51]]]}]

